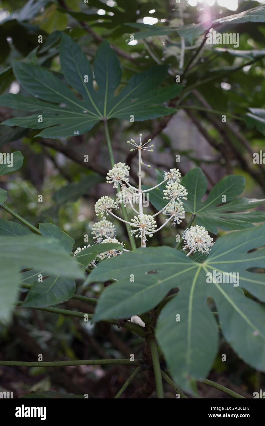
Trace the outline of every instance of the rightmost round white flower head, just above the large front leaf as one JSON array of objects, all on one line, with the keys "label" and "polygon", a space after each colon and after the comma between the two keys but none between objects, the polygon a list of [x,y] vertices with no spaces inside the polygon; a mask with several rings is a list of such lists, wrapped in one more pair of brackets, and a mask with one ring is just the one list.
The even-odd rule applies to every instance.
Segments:
[{"label": "rightmost round white flower head, just above the large front leaf", "polygon": [[191,226],[190,229],[185,229],[182,234],[182,237],[185,242],[185,247],[182,250],[189,249],[194,253],[198,251],[199,253],[210,253],[212,246],[214,245],[214,240],[208,234],[205,227],[203,226]]}]

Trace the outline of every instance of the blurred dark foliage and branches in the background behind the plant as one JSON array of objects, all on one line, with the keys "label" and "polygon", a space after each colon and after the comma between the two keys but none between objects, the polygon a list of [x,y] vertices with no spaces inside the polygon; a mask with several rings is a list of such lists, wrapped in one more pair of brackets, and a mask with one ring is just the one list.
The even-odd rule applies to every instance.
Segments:
[{"label": "blurred dark foliage and branches in the background behind the plant", "polygon": [[[119,55],[123,66],[122,84],[134,73],[154,63],[169,67],[165,84],[173,84],[176,75],[185,85],[185,98],[169,103],[178,108],[172,117],[137,123],[111,120],[110,132],[115,161],[132,168],[137,164],[126,141],[141,132],[155,145],[152,157],[146,156],[151,169],[145,169],[145,184],[155,179],[155,169],[179,167],[182,175],[199,165],[208,179],[208,191],[223,176],[240,174],[246,178],[244,196],[265,198],[265,166],[253,164],[253,153],[264,147],[265,134],[265,27],[264,22],[245,22],[218,27],[219,32],[240,34],[238,49],[233,46],[209,46],[204,34],[185,38],[184,64],[181,66],[183,39],[174,29],[167,34],[139,35],[144,29],[132,24],[180,28],[191,23],[210,22],[234,13],[261,6],[252,0],[2,0],[0,5],[0,93],[27,95],[15,80],[12,63],[27,60],[40,64],[63,79],[58,47],[61,32],[70,34],[93,60],[97,46],[107,39]],[[131,25],[130,25],[131,24]],[[137,25],[136,25],[137,26]],[[150,30],[150,27],[148,27]],[[159,31],[158,31],[159,32]],[[131,35],[135,40],[131,41]],[[38,36],[43,43],[38,43]],[[129,43],[129,44],[128,44]],[[247,52],[242,52],[247,51]],[[191,58],[196,53],[191,62]],[[203,83],[205,80],[205,83]],[[174,104],[175,102],[175,104]],[[258,108],[259,115],[250,108]],[[263,110],[263,112],[262,112]],[[250,114],[251,113],[251,114]],[[26,113],[24,112],[26,115]],[[263,115],[262,115],[263,114]],[[226,123],[222,123],[226,115]],[[9,108],[0,107],[0,121],[14,116]],[[21,116],[21,112],[20,112]],[[110,168],[102,124],[88,134],[63,140],[35,138],[36,130],[0,127],[0,150],[20,150],[23,167],[0,177],[0,187],[8,189],[8,205],[33,225],[51,222],[83,246],[84,234],[89,235],[97,220],[94,203],[100,196],[113,196],[106,185]],[[84,155],[89,156],[84,163]],[[180,163],[175,157],[180,155]],[[145,161],[145,159],[144,159]],[[94,187],[88,184],[91,173],[100,176]],[[136,182],[134,182],[135,184]],[[38,195],[43,202],[38,202]],[[152,206],[150,206],[152,209]],[[260,207],[264,210],[264,206]],[[0,211],[2,219],[11,220]],[[117,238],[128,243],[125,229],[118,223]],[[157,223],[159,226],[159,223]],[[185,228],[185,222],[181,224]],[[151,245],[175,245],[175,230],[169,225],[155,234]],[[87,296],[97,297],[100,285],[91,285]],[[68,308],[88,311],[82,302],[69,301]],[[99,323],[81,325],[62,316],[20,309],[10,326],[0,325],[0,358],[2,360],[45,360],[139,357],[143,340],[129,331]],[[234,391],[252,396],[255,389],[264,389],[264,377],[238,359],[221,336],[220,354],[229,354],[228,362],[216,362],[211,379]],[[220,359],[220,357],[219,357]],[[126,366],[82,366],[66,368],[0,368],[0,390],[14,391],[16,397],[31,390],[55,390],[91,397],[113,397],[127,378]],[[145,373],[128,388],[129,397],[144,383]],[[199,385],[202,397],[226,397],[215,389]],[[167,389],[166,397],[174,398]]]}]

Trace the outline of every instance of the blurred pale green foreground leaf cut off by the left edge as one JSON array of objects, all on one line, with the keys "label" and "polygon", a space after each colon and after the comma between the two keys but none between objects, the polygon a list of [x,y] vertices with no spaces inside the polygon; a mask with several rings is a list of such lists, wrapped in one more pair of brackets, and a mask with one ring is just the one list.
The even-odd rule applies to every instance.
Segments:
[{"label": "blurred pale green foreground leaf cut off by the left edge", "polygon": [[[19,271],[36,268],[68,279],[83,278],[80,267],[52,238],[37,235],[0,237],[0,311],[9,319],[11,303],[20,282]],[[3,296],[3,297],[2,297]]]}]

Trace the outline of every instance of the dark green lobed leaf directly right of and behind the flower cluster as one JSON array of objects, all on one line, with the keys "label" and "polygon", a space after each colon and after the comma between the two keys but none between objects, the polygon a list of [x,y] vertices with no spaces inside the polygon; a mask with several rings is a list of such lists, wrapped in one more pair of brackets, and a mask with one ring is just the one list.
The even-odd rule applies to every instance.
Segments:
[{"label": "dark green lobed leaf directly right of and behind the flower cluster", "polygon": [[[214,186],[205,201],[201,200],[207,190],[207,179],[199,167],[190,170],[182,178],[181,184],[188,191],[188,200],[183,201],[185,211],[196,214],[197,225],[204,226],[214,234],[218,233],[217,227],[223,230],[237,230],[253,227],[253,223],[265,222],[264,212],[249,211],[262,204],[264,199],[236,198],[245,188],[243,176],[226,176]],[[164,188],[165,184],[148,192],[149,201],[158,210],[165,207],[168,202],[163,199]]]}]

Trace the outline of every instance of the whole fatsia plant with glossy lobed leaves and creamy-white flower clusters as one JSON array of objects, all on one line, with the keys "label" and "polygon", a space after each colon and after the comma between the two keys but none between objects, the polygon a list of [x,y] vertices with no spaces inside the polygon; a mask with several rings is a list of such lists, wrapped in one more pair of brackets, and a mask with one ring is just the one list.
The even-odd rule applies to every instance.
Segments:
[{"label": "whole fatsia plant with glossy lobed leaves and creamy-white flower clusters", "polygon": [[[156,65],[135,73],[120,88],[120,61],[108,42],[97,49],[91,66],[69,35],[62,33],[60,39],[60,78],[32,58],[14,62],[17,81],[32,96],[6,94],[0,96],[0,104],[33,114],[16,112],[3,124],[37,129],[37,137],[57,139],[82,135],[102,122],[110,160],[106,182],[108,190],[113,187],[113,196],[108,193],[96,201],[99,220],[91,228],[93,242],[73,249],[74,239],[60,227],[46,222],[35,227],[14,213],[6,205],[7,192],[0,189],[0,206],[20,222],[0,219],[0,319],[9,320],[15,304],[92,323],[108,322],[138,334],[144,345],[142,359],[132,354],[131,359],[42,363],[134,366],[116,397],[145,370],[148,386],[138,389],[138,397],[148,397],[156,389],[157,397],[163,398],[162,380],[182,398],[186,393],[197,395],[197,382],[242,397],[207,376],[221,357],[220,333],[240,359],[265,371],[265,312],[258,302],[265,302],[265,274],[259,273],[264,268],[265,225],[256,225],[265,222],[265,213],[253,210],[264,200],[240,197],[243,176],[228,175],[208,191],[200,167],[181,176],[177,164],[157,169],[157,181],[146,185],[144,170],[151,166],[143,159],[155,147],[142,134],[128,145],[124,141],[137,154],[137,182],[130,181],[125,158],[116,162],[108,120],[132,123],[170,115],[176,109],[167,102],[183,86],[162,86],[168,67]],[[12,167],[0,165],[0,175],[22,164],[17,151]],[[102,179],[91,174],[82,182],[89,188]],[[75,184],[71,185],[74,192]],[[126,242],[117,239],[112,219],[126,227]],[[171,246],[152,246],[154,234],[170,225]],[[80,294],[91,283],[104,283],[98,299]],[[19,288],[27,291],[23,302],[15,301]],[[54,307],[70,299],[95,305],[94,314]],[[38,365],[0,361],[0,365],[29,364]]]}]

